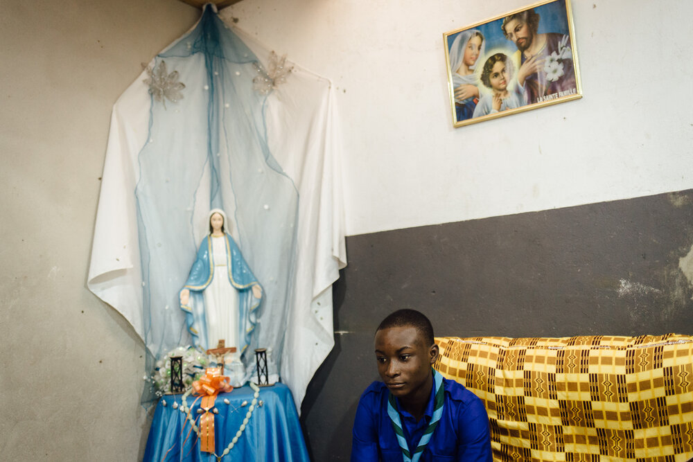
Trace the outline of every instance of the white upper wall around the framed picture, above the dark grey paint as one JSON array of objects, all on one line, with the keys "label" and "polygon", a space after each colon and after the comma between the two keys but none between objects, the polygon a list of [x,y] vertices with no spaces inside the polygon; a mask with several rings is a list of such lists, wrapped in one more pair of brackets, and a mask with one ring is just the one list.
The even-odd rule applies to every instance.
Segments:
[{"label": "white upper wall around the framed picture, above the dark grey paint", "polygon": [[350,235],[693,187],[689,0],[573,0],[584,98],[453,129],[442,33],[529,0],[243,0],[222,10],[331,78]]}]

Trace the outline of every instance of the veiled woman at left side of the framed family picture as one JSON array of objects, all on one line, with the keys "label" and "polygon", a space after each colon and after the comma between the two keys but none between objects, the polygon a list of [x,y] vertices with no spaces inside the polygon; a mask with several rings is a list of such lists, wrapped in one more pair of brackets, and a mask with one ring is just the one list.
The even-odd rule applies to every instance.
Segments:
[{"label": "veiled woman at left side of the framed family picture", "polygon": [[479,75],[476,62],[484,53],[484,36],[476,29],[457,34],[450,46],[450,73],[455,91],[457,122],[471,118],[479,100]]}]

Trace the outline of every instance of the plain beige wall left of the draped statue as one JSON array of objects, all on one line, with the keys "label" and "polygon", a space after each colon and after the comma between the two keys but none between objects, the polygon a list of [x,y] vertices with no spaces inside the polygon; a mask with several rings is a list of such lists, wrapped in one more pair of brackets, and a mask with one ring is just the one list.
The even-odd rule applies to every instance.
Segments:
[{"label": "plain beige wall left of the draped statue", "polygon": [[0,459],[134,461],[143,344],[86,287],[111,107],[198,18],[173,0],[0,2]]}]

